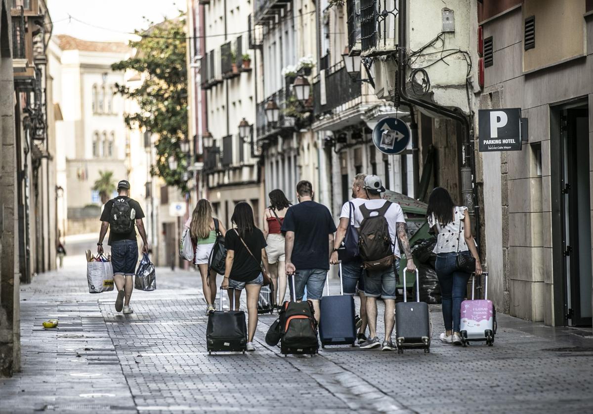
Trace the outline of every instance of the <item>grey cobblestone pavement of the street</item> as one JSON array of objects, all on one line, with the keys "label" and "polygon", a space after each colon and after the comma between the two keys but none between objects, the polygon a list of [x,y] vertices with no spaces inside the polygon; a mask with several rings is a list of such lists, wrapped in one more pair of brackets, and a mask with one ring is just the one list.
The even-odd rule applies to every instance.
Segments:
[{"label": "grey cobblestone pavement of the street", "polygon": [[[157,291],[135,291],[124,316],[114,292],[88,294],[84,259],[68,259],[21,287],[23,370],[0,379],[1,413],[593,412],[590,329],[500,314],[495,346],[461,348],[438,341],[433,306],[430,354],[285,358],[265,344],[274,317],[262,316],[256,352],[208,355],[197,273],[158,269]],[[54,317],[58,329],[43,329]]]}]

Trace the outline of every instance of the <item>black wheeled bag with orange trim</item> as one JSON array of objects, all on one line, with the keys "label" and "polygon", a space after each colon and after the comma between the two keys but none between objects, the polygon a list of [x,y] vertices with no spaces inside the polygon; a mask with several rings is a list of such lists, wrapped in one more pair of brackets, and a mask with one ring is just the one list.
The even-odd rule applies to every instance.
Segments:
[{"label": "black wheeled bag with orange trim", "polygon": [[313,302],[297,302],[295,276],[291,276],[292,301],[286,301],[280,311],[280,352],[315,355],[319,351],[317,321]]}]

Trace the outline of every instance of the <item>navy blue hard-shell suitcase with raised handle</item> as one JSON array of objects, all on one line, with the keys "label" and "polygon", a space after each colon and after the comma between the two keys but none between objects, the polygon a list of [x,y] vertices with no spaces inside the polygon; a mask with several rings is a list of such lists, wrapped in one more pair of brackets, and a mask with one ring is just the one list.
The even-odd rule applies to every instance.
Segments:
[{"label": "navy blue hard-shell suitcase with raised handle", "polygon": [[351,345],[356,342],[354,321],[354,298],[344,295],[342,281],[342,262],[339,263],[340,296],[330,296],[329,277],[327,278],[327,296],[321,298],[319,338],[321,348],[326,345]]}]

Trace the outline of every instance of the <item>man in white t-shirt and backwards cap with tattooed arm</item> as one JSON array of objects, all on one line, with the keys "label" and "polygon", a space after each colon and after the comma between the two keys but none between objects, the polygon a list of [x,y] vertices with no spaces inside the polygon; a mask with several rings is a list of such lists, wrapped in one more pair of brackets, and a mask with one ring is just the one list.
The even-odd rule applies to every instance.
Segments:
[{"label": "man in white t-shirt and backwards cap with tattooed arm", "polygon": [[[364,181],[364,190],[368,197],[361,203],[354,212],[354,225],[360,227],[364,216],[361,211],[361,206],[364,205],[366,209],[371,211],[371,216],[377,215],[378,210],[384,207],[387,200],[381,199],[381,193],[385,192],[385,187],[378,176],[366,176]],[[401,206],[398,203],[391,203],[384,214],[391,236],[391,244],[393,246],[393,255],[395,266],[390,266],[387,269],[375,270],[366,269],[365,278],[365,296],[366,296],[366,317],[369,325],[369,339],[361,344],[362,349],[372,349],[382,346],[383,351],[394,351],[396,347],[391,342],[391,333],[395,324],[395,308],[396,308],[396,271],[399,269],[400,248],[397,243],[397,238],[401,241],[401,246],[404,249],[407,260],[407,269],[409,272],[415,272],[416,266],[410,253],[410,243],[406,234],[406,219],[404,218]],[[396,236],[397,234],[397,236]],[[395,270],[394,270],[395,267]],[[385,303],[385,339],[381,345],[377,337],[377,298],[381,297]]]}]

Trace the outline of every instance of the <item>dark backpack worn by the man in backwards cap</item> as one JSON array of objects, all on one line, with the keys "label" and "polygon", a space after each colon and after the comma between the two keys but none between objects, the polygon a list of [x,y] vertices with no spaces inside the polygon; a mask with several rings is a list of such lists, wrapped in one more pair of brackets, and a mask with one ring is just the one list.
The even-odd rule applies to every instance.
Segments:
[{"label": "dark backpack worn by the man in backwards cap", "polygon": [[[358,247],[365,269],[387,269],[393,266],[393,244],[389,234],[389,225],[385,213],[391,202],[378,209],[368,209],[364,204],[359,207],[362,213],[361,227],[358,229]],[[371,212],[378,214],[371,216]]]}]

